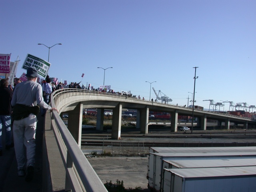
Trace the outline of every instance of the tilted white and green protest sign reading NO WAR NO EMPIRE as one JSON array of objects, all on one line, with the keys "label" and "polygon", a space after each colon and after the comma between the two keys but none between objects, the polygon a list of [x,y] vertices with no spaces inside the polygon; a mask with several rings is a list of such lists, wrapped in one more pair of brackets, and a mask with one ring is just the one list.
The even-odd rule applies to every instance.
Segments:
[{"label": "tilted white and green protest sign reading NO WAR NO EMPIRE", "polygon": [[24,60],[22,69],[27,70],[29,67],[35,67],[38,70],[38,75],[46,78],[48,70],[51,64],[39,57],[27,54],[26,59]]}]

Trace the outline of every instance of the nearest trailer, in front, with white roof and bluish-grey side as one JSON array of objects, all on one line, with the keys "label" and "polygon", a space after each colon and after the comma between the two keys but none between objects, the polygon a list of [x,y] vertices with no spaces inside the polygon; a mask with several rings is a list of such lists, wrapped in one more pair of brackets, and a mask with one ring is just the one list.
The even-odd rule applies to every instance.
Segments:
[{"label": "nearest trailer, in front, with white roof and bluish-grey side", "polygon": [[255,192],[256,166],[164,169],[163,192]]}]

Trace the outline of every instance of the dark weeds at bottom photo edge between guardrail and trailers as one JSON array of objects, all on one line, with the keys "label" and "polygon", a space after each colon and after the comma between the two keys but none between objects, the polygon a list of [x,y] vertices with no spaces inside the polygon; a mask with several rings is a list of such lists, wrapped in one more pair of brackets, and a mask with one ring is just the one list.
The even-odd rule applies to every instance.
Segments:
[{"label": "dark weeds at bottom photo edge between guardrail and trailers", "polygon": [[112,183],[112,181],[110,180],[110,182],[106,181],[106,183],[104,183],[104,186],[106,187],[106,189],[108,190],[108,192],[140,192],[142,190],[141,187],[136,187],[136,188],[131,188],[129,187],[128,189],[124,188],[124,181],[119,181],[116,180],[116,183]]}]

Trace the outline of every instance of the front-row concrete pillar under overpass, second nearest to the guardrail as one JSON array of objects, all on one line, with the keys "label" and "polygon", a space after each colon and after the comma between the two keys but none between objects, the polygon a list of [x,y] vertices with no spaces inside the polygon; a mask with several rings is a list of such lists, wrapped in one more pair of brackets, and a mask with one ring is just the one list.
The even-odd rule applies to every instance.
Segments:
[{"label": "front-row concrete pillar under overpass, second nearest to the guardrail", "polygon": [[121,139],[122,104],[113,109],[112,118],[112,139]]}]

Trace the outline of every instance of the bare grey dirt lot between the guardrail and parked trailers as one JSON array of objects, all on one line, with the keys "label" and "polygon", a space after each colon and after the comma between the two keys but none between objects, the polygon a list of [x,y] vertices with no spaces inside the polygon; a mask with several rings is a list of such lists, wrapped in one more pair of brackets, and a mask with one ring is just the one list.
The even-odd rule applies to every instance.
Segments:
[{"label": "bare grey dirt lot between the guardrail and parked trailers", "polygon": [[88,161],[102,183],[110,180],[112,183],[115,183],[116,180],[123,180],[125,188],[148,189],[147,157],[96,157],[88,158]]}]

